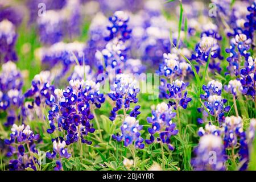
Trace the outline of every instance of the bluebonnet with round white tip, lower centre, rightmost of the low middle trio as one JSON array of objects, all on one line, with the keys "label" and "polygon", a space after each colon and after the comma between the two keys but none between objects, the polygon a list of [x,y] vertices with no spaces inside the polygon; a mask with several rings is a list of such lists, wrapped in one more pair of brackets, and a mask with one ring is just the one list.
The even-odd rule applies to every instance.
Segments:
[{"label": "bluebonnet with round white tip, lower centre, rightmost of the low middle trio", "polygon": [[152,110],[152,117],[147,117],[147,122],[152,124],[148,128],[150,139],[145,140],[147,144],[155,141],[155,134],[159,134],[156,138],[157,142],[166,143],[170,150],[174,150],[171,144],[171,136],[177,135],[176,124],[172,123],[172,118],[176,113],[173,113],[173,107],[162,102],[156,106],[156,110]]}]

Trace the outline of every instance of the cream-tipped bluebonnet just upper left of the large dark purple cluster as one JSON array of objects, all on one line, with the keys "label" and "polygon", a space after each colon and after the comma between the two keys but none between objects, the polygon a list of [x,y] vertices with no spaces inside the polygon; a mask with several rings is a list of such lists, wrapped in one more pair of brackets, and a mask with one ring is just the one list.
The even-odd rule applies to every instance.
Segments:
[{"label": "cream-tipped bluebonnet just upper left of the large dark purple cluster", "polygon": [[[42,71],[35,75],[32,80],[31,88],[24,94],[26,98],[32,98],[29,109],[40,107],[46,102],[50,102],[51,94],[54,92],[54,86],[51,85],[52,75],[49,71]],[[39,115],[39,113],[38,113]]]}]

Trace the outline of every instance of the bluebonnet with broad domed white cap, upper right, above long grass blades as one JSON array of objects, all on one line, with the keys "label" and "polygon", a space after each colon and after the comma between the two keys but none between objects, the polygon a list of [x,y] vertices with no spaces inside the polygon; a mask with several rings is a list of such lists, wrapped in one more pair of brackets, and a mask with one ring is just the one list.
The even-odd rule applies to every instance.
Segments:
[{"label": "bluebonnet with broad domed white cap, upper right, above long grass blades", "polygon": [[210,56],[210,69],[216,69],[218,72],[221,71],[220,62],[216,62],[216,59],[222,60],[221,49],[215,38],[212,36],[203,36],[199,43],[197,43],[195,52],[191,56],[192,60],[196,60],[197,63],[205,64],[207,63]]}]

